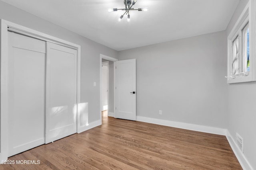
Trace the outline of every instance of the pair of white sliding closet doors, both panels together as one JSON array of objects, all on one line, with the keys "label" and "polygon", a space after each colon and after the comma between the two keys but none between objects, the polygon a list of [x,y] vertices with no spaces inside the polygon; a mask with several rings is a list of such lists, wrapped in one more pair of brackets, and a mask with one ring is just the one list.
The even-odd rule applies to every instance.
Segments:
[{"label": "pair of white sliding closet doors, both panels together", "polygon": [[77,50],[8,31],[8,157],[76,133]]}]

